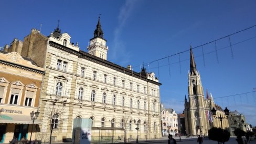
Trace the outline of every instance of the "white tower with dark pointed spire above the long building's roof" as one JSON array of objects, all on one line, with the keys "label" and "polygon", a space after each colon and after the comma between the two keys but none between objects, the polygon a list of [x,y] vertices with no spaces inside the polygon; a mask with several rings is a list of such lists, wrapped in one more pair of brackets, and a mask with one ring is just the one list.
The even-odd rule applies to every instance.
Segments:
[{"label": "white tower with dark pointed spire above the long building's roof", "polygon": [[87,46],[88,53],[98,56],[106,60],[109,47],[106,46],[106,40],[103,38],[103,30],[100,25],[100,17],[93,33],[93,38],[90,39],[90,45]]}]

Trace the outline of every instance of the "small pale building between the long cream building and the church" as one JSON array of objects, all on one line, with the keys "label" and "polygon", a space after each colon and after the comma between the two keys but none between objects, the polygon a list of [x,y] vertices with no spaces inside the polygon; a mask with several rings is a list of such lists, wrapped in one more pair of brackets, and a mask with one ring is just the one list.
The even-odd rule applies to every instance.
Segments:
[{"label": "small pale building between the long cream building and the church", "polygon": [[178,134],[178,115],[173,109],[165,109],[161,104],[162,136]]}]

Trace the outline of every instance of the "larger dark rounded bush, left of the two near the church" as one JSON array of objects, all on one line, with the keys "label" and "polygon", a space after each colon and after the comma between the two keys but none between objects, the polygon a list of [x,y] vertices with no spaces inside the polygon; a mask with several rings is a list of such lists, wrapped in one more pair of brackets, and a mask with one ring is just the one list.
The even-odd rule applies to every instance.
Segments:
[{"label": "larger dark rounded bush, left of the two near the church", "polygon": [[229,140],[230,133],[228,130],[222,128],[212,127],[208,131],[209,139],[215,140],[218,142],[226,142]]}]

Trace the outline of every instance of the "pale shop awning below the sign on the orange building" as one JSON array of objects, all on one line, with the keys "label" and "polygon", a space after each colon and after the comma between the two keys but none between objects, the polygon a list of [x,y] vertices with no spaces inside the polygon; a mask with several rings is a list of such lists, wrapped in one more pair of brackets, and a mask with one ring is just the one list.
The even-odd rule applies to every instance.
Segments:
[{"label": "pale shop awning below the sign on the orange building", "polygon": [[[31,117],[28,115],[9,115],[0,114],[0,123],[8,124],[32,124]],[[35,120],[34,124],[39,124],[40,121]]]}]

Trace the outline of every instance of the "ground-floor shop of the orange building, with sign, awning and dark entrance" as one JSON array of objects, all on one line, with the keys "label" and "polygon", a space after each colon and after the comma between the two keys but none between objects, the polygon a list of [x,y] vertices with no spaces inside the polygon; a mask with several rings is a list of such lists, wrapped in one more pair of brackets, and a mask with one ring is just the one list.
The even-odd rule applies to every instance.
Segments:
[{"label": "ground-floor shop of the orange building, with sign, awning and dark entrance", "polygon": [[[35,108],[23,106],[0,105],[0,143],[9,143],[13,138],[30,139],[32,120],[30,112]],[[38,121],[35,121],[32,139],[35,139]]]}]

